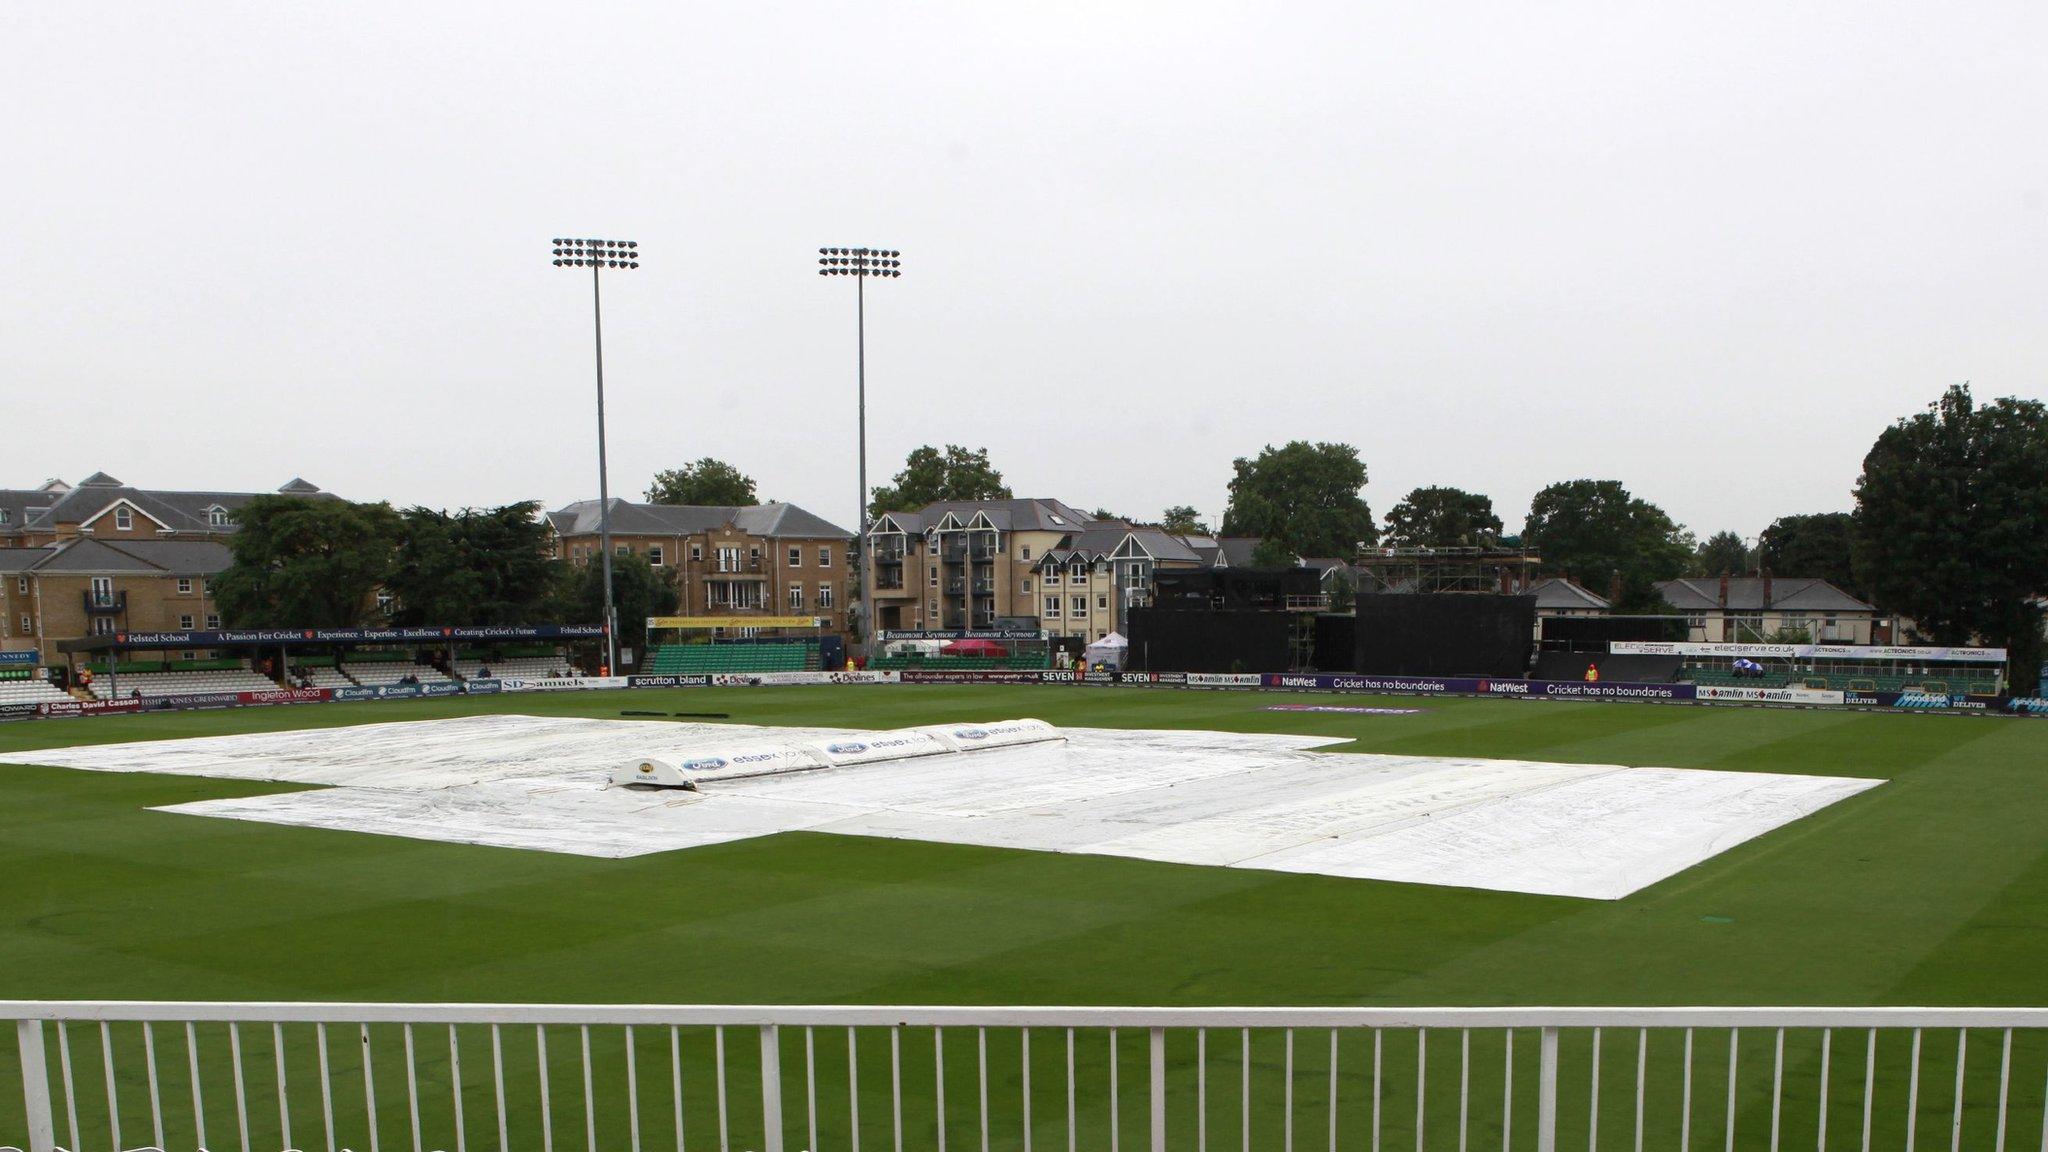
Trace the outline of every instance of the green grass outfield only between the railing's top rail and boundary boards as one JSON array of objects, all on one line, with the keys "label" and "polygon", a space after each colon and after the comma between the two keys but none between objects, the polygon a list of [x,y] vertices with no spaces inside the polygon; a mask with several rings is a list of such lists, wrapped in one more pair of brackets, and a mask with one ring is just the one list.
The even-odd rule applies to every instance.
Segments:
[{"label": "green grass outfield only between the railing's top rail and boundary boards", "polygon": [[[1278,713],[1282,701],[1417,715]],[[819,687],[258,707],[0,748],[475,711],[1284,730],[1352,750],[1868,775],[1626,900],[780,834],[627,861],[150,812],[283,785],[0,767],[0,996],[963,1004],[2048,1004],[2048,724],[1647,703]]]}]

